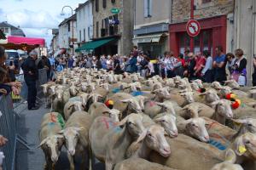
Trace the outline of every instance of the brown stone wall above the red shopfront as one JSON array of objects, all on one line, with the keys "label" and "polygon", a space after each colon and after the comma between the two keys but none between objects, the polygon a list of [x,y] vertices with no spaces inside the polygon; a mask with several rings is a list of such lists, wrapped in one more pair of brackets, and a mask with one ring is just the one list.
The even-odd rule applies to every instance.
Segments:
[{"label": "brown stone wall above the red shopfront", "polygon": [[[195,0],[195,19],[210,18],[233,12],[233,0],[212,0],[211,3],[201,3],[201,1]],[[189,20],[190,2],[190,0],[173,0],[172,23]]]}]

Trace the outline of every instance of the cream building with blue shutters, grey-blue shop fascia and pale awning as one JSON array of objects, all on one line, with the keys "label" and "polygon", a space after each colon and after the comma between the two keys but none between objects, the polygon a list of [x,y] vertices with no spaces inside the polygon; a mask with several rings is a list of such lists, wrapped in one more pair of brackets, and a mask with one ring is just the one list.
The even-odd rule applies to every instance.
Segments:
[{"label": "cream building with blue shutters, grey-blue shop fascia and pale awning", "polygon": [[143,52],[160,56],[169,50],[168,26],[172,0],[137,0],[134,6],[133,43]]}]

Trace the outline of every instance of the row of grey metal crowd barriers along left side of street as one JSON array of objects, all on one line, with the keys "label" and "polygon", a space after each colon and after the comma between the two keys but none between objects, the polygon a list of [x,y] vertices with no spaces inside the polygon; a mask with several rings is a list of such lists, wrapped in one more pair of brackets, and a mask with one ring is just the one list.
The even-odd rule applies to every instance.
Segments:
[{"label": "row of grey metal crowd barriers along left side of street", "polygon": [[[17,77],[17,81],[22,82],[22,95],[20,95],[23,99],[26,99],[27,88],[23,75],[19,75]],[[38,70],[38,94],[42,93],[41,85],[46,82],[48,82],[47,71],[45,69]],[[18,105],[21,105],[21,103]],[[15,107],[17,107],[18,105],[15,105]],[[15,154],[17,142],[26,146],[27,149],[31,149],[27,145],[26,140],[22,139],[22,137],[20,137],[20,135],[16,131],[16,117],[18,117],[19,115],[16,114],[14,109],[15,108],[11,95],[0,97],[0,115],[2,115],[0,117],[0,134],[3,135],[3,137],[9,139],[8,143],[4,145],[3,148],[0,148],[0,151],[3,151],[3,154],[5,156],[5,158],[3,159],[3,170],[15,169]]]}]

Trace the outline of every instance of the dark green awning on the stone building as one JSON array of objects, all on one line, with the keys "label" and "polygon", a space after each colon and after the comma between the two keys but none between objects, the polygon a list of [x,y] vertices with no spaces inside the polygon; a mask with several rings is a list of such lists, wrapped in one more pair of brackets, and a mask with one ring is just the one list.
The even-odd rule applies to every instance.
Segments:
[{"label": "dark green awning on the stone building", "polygon": [[83,46],[77,48],[75,51],[80,52],[80,51],[89,51],[89,50],[94,50],[95,48],[99,48],[102,45],[107,44],[108,42],[112,42],[116,38],[108,38],[108,39],[102,39],[102,40],[96,40],[92,42],[87,42]]}]

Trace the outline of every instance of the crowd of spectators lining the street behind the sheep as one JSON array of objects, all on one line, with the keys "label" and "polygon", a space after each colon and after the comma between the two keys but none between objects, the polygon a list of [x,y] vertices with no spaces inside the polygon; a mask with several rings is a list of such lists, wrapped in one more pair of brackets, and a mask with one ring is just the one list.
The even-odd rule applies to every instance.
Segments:
[{"label": "crowd of spectators lining the street behind the sheep", "polygon": [[[126,72],[138,72],[148,78],[159,75],[163,78],[188,77],[189,80],[201,79],[203,82],[218,81],[224,83],[227,79],[235,79],[241,86],[247,85],[247,59],[242,49],[236,49],[235,54],[224,54],[221,46],[215,48],[216,56],[212,57],[205,50],[202,53],[192,53],[189,49],[184,54],[174,56],[171,52],[165,52],[161,57],[154,57],[150,52],[142,52],[135,46],[129,56],[104,55],[50,57],[49,66],[56,71],[65,68],[85,67],[114,71],[115,74]],[[253,57],[253,86],[256,86],[256,57]],[[49,73],[49,78],[52,78]]]}]

